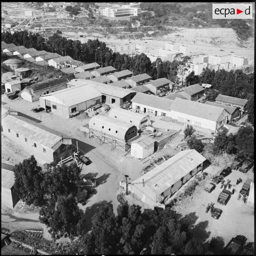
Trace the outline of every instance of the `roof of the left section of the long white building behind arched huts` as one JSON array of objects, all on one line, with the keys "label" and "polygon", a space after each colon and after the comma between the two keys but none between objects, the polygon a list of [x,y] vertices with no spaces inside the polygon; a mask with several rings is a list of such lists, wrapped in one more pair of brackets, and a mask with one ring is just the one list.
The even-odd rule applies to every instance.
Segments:
[{"label": "roof of the left section of the long white building behind arched huts", "polygon": [[134,103],[143,104],[146,106],[155,107],[158,109],[170,111],[173,105],[173,100],[168,100],[158,96],[148,95],[145,93],[137,93],[131,100]]}]

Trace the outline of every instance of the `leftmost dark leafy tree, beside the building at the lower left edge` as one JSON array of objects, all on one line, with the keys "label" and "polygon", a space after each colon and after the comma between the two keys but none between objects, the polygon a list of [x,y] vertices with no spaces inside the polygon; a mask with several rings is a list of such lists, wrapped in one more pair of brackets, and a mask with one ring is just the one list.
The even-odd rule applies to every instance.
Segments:
[{"label": "leftmost dark leafy tree, beside the building at the lower left edge", "polygon": [[37,165],[34,156],[15,165],[14,177],[14,188],[19,198],[28,205],[42,206],[44,204],[42,168]]}]

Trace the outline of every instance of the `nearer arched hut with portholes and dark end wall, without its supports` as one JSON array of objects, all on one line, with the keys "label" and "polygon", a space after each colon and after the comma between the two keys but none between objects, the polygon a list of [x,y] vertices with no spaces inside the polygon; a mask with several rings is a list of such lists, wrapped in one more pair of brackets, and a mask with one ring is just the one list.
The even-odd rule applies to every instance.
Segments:
[{"label": "nearer arched hut with portholes and dark end wall, without its supports", "polygon": [[97,115],[89,121],[90,133],[96,133],[125,144],[137,136],[138,130],[135,125],[114,120],[109,117]]}]

